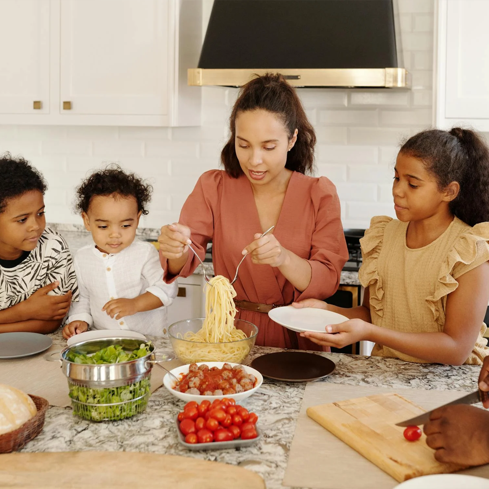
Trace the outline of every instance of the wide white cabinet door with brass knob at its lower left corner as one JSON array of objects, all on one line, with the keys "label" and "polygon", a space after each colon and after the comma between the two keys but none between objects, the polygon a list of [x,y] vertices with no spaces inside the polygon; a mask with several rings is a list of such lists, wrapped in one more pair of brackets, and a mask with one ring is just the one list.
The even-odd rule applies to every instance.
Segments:
[{"label": "wide white cabinet door with brass knob at its lower left corner", "polygon": [[173,8],[172,0],[62,0],[61,113],[167,114]]}]

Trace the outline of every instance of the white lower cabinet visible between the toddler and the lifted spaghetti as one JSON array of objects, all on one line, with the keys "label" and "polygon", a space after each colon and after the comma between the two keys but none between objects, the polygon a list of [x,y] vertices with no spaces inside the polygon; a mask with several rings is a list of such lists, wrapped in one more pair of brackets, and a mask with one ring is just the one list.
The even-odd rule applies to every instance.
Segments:
[{"label": "white lower cabinet visible between the toddler and the lifted spaghetti", "polygon": [[178,279],[178,297],[168,307],[168,326],[193,317],[205,316],[204,277],[194,273]]}]

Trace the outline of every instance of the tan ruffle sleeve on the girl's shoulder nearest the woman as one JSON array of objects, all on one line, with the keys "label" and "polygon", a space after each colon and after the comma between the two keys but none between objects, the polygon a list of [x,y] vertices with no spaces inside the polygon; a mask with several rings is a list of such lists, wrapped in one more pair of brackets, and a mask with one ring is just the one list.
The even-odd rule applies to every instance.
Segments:
[{"label": "tan ruffle sleeve on the girl's shoulder nearest the woman", "polygon": [[392,218],[388,216],[373,217],[370,221],[370,227],[365,231],[365,236],[360,239],[362,266],[358,271],[358,279],[363,287],[369,287],[370,306],[379,316],[383,315],[384,289],[382,278],[378,275],[377,262],[382,249],[385,227],[391,221]]}]

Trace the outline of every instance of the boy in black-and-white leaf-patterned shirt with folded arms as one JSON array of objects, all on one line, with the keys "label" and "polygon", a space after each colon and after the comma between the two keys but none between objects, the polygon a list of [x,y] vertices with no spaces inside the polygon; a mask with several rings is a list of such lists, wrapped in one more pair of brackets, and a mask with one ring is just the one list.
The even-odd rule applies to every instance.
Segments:
[{"label": "boy in black-and-white leaf-patterned shirt with folded arms", "polygon": [[52,333],[78,298],[68,246],[46,228],[43,176],[0,156],[0,333]]}]

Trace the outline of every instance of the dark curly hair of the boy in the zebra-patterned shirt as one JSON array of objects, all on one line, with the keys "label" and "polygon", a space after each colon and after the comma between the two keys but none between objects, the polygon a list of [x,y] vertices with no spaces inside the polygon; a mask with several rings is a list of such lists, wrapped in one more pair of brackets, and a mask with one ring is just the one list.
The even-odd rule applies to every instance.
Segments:
[{"label": "dark curly hair of the boy in the zebra-patterned shirt", "polygon": [[22,156],[14,157],[8,152],[0,155],[0,214],[8,200],[32,190],[39,190],[43,195],[47,190],[41,172]]}]

